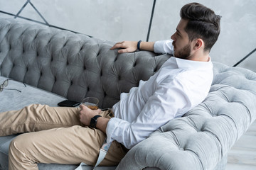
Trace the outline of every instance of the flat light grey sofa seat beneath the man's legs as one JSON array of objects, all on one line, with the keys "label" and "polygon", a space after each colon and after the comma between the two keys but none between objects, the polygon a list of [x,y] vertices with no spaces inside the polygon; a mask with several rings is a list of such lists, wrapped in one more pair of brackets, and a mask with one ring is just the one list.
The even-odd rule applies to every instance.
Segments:
[{"label": "flat light grey sofa seat beneath the man's legs", "polygon": [[[6,77],[0,77],[0,84],[2,84]],[[33,103],[46,104],[48,106],[58,106],[60,101],[65,100],[63,96],[44,91],[33,86],[26,86],[23,83],[15,80],[9,80],[6,89],[18,89],[16,90],[3,90],[0,92],[0,113],[4,111],[12,111],[23,108]],[[10,107],[11,106],[11,107]],[[0,169],[8,169],[8,150],[11,140],[17,135],[10,135],[6,137],[0,137]],[[54,169],[54,170],[71,170],[78,167],[78,165],[60,165],[60,164],[38,164],[39,169]],[[83,170],[92,169],[91,166],[82,166]],[[97,169],[108,170],[115,169],[115,166],[104,167],[100,166]]]}]

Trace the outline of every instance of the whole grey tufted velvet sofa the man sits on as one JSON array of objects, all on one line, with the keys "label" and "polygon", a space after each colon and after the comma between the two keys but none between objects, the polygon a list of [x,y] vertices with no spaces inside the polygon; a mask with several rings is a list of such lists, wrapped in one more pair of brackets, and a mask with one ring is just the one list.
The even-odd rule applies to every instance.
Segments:
[{"label": "whole grey tufted velvet sofa the man sits on", "polygon": [[[45,26],[0,19],[0,113],[31,103],[57,106],[68,98],[100,98],[111,108],[119,94],[149,79],[169,55],[133,52],[119,55],[114,42]],[[214,56],[212,56],[214,58]],[[214,62],[214,79],[203,103],[169,121],[133,147],[117,167],[97,169],[225,169],[230,147],[256,118],[256,74]],[[26,86],[23,85],[26,84]],[[8,169],[9,143],[0,137],[0,169]],[[39,164],[39,169],[77,165]],[[83,169],[90,169],[83,166]]]}]

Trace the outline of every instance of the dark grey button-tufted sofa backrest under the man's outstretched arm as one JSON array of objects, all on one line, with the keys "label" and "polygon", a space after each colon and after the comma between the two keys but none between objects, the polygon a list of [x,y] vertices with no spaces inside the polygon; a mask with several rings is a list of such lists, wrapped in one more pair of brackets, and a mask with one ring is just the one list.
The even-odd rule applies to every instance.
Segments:
[{"label": "dark grey button-tufted sofa backrest under the man's outstretched arm", "polygon": [[100,99],[101,108],[149,79],[169,56],[152,52],[119,55],[114,42],[13,19],[1,19],[0,75],[73,101]]}]

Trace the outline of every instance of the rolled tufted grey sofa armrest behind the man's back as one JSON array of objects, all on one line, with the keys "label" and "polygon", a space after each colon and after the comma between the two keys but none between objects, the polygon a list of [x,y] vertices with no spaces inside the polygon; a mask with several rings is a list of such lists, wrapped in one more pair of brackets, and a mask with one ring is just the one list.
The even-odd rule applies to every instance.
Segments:
[{"label": "rolled tufted grey sofa armrest behind the man's back", "polygon": [[256,74],[218,63],[214,74],[203,103],[133,147],[117,169],[199,170],[225,164],[229,149],[256,118]]}]

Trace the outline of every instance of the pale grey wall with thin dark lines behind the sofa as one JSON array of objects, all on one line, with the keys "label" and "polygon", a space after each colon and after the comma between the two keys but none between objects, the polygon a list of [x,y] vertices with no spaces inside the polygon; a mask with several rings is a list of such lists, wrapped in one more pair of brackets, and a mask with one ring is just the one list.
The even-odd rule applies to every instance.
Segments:
[{"label": "pale grey wall with thin dark lines behind the sofa", "polygon": [[[16,15],[26,0],[0,0],[0,11]],[[156,0],[149,41],[169,39],[179,21],[179,10],[189,0]],[[212,60],[233,66],[256,48],[255,0],[198,0],[222,16]],[[146,40],[154,0],[31,0],[53,26],[112,41]],[[19,16],[45,23],[27,4]],[[13,18],[1,12],[1,18]],[[22,18],[17,18],[23,20]],[[238,67],[256,72],[256,52]]]}]

